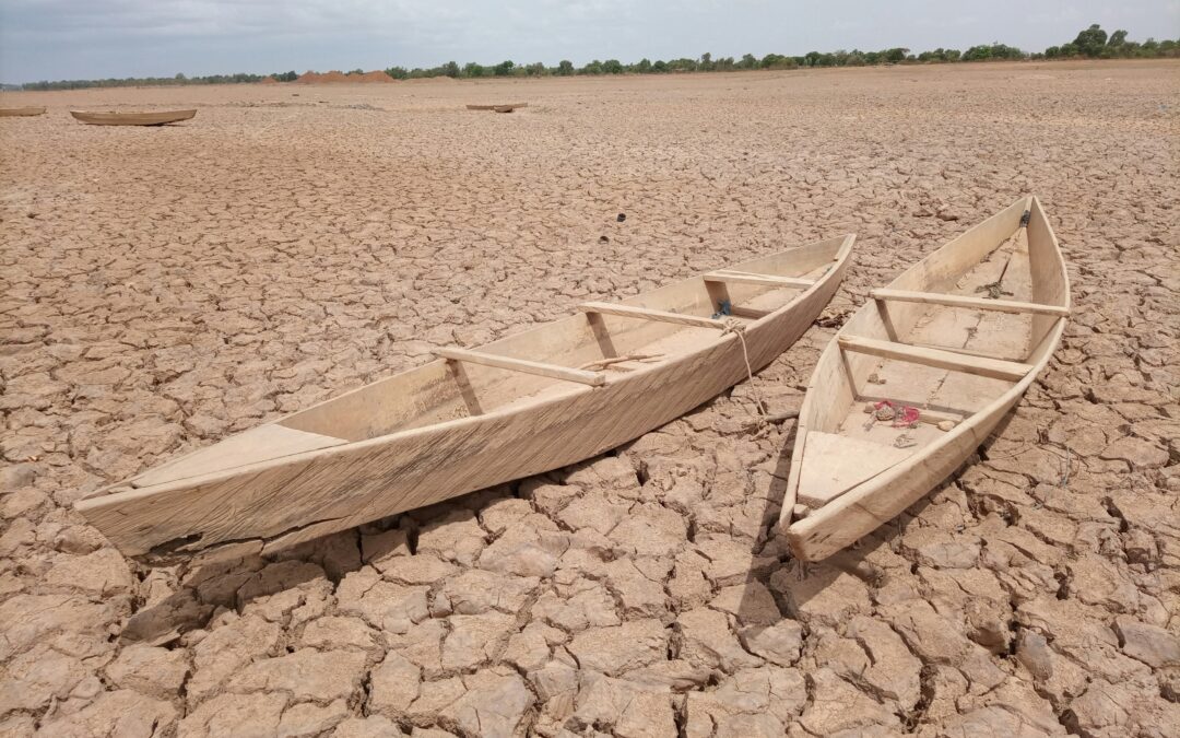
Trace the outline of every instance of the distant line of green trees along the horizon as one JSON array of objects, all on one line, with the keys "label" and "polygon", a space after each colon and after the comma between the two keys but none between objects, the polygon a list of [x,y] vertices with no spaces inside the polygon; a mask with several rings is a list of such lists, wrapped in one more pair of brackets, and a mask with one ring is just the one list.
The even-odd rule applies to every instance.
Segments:
[{"label": "distant line of green trees along the horizon", "polygon": [[[504,60],[494,65],[483,65],[468,61],[460,66],[457,61],[447,61],[435,67],[392,66],[385,73],[394,79],[418,79],[426,77],[451,77],[455,79],[478,79],[483,77],[575,77],[575,76],[598,76],[598,74],[666,74],[686,72],[734,72],[746,70],[793,70],[805,67],[831,67],[831,66],[873,66],[879,64],[942,64],[961,61],[990,61],[990,60],[1038,60],[1038,59],[1155,59],[1155,58],[1180,58],[1180,39],[1165,39],[1156,41],[1153,38],[1146,41],[1127,40],[1126,31],[1115,31],[1107,35],[1107,32],[1097,24],[1081,31],[1077,37],[1058,46],[1050,46],[1043,52],[1029,53],[1015,46],[1005,44],[984,44],[971,46],[964,51],[957,48],[936,48],[911,53],[909,48],[893,47],[880,51],[812,51],[800,57],[787,57],[782,54],[766,54],[758,58],[754,54],[743,54],[740,59],[734,57],[713,58],[710,53],[703,53],[697,59],[640,59],[634,64],[623,64],[618,59],[598,60],[595,59],[584,66],[575,66],[572,61],[563,59],[556,66],[546,66],[537,61],[535,64],[516,64]],[[361,70],[353,70],[348,74],[359,74]],[[145,77],[127,79],[74,79],[60,81],[39,81],[22,85],[25,90],[74,90],[79,87],[118,87],[132,85],[195,85],[195,84],[227,84],[260,81],[263,74],[210,74],[206,77]],[[278,81],[293,81],[299,76],[294,72],[281,72],[269,74]]]}]

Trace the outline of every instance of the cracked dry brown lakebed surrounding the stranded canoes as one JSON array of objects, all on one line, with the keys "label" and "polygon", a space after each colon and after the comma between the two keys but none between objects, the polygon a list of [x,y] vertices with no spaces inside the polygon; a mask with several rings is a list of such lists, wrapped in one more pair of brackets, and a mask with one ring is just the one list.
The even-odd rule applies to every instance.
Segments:
[{"label": "cracked dry brown lakebed surrounding the stranded canoes", "polygon": [[[0,104],[50,106],[0,119],[0,734],[1180,734],[1180,64]],[[756,378],[787,410],[871,286],[1027,192],[1064,344],[978,458],[822,564],[772,529],[793,427],[743,431],[748,386],[275,559],[149,570],[70,507],[433,346],[856,231]]]}]

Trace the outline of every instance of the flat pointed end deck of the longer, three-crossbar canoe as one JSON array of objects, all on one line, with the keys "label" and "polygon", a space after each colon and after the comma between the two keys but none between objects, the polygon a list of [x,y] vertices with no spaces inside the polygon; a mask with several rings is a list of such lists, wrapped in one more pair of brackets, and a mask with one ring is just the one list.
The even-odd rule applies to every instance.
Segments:
[{"label": "flat pointed end deck of the longer, three-crossbar canoe", "polygon": [[131,484],[137,488],[152,486],[346,443],[348,440],[345,438],[297,431],[286,425],[271,423],[231,436],[215,446],[202,449],[172,463],[157,466],[133,478]]}]

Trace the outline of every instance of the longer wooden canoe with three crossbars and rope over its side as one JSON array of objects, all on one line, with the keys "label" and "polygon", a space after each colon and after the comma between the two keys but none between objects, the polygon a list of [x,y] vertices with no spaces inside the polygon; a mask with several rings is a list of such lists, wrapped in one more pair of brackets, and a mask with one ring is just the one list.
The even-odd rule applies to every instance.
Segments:
[{"label": "longer wooden canoe with three crossbars and rope over its side", "polygon": [[[130,556],[210,560],[577,463],[745,379],[726,320],[745,327],[750,365],[766,366],[827,305],[853,241],[585,303],[478,350],[440,348],[439,360],[168,462],[77,508]],[[733,318],[714,319],[723,303]]]}]

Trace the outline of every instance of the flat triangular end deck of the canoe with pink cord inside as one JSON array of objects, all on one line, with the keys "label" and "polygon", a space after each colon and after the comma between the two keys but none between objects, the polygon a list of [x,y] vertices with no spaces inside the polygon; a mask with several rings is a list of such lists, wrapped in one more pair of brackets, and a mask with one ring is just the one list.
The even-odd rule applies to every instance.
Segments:
[{"label": "flat triangular end deck of the canoe with pink cord inside", "polygon": [[804,445],[798,499],[812,509],[821,508],[912,452],[913,449],[811,431]]}]

